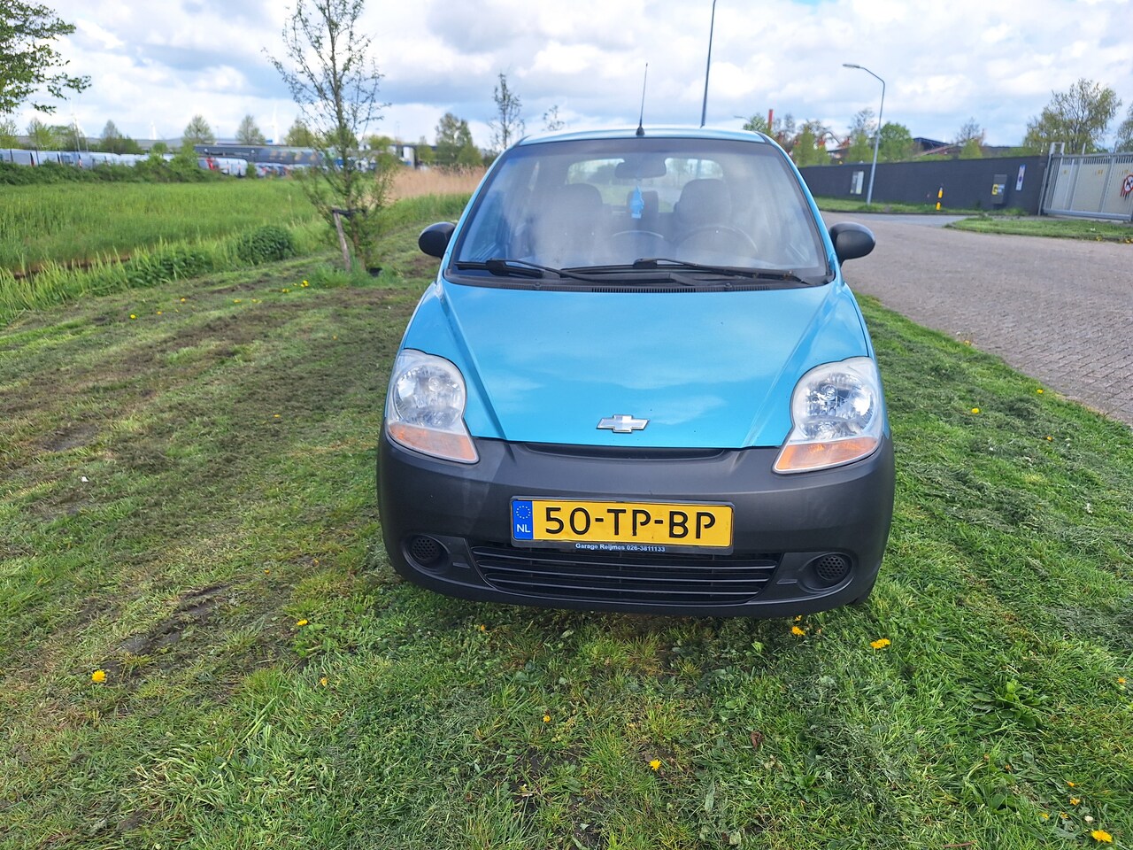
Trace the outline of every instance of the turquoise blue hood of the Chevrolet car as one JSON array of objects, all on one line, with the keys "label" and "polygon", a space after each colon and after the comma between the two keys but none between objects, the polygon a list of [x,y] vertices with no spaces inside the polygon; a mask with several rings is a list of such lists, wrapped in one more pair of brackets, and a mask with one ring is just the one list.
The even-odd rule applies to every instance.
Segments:
[{"label": "turquoise blue hood of the Chevrolet car", "polygon": [[[871,355],[841,282],[756,291],[547,291],[440,280],[402,345],[452,360],[474,436],[653,448],[780,445],[798,380]],[[598,428],[648,419],[630,433]]]}]

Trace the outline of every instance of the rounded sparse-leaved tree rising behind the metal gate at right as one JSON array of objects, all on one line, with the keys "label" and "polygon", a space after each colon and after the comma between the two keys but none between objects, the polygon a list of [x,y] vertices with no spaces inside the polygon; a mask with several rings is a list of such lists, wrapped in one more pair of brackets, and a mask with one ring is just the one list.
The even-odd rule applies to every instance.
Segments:
[{"label": "rounded sparse-leaved tree rising behind the metal gate at right", "polygon": [[1023,147],[1041,154],[1053,142],[1062,142],[1066,153],[1104,150],[1106,130],[1122,105],[1117,93],[1083,77],[1065,92],[1050,94],[1050,103],[1042,113],[1026,122]]}]

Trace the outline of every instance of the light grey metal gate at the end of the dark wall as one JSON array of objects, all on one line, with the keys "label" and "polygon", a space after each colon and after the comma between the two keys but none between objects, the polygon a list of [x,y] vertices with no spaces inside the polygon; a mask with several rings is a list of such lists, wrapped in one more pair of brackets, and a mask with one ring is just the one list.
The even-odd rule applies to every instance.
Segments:
[{"label": "light grey metal gate at the end of the dark wall", "polygon": [[1133,153],[1051,152],[1046,182],[1043,215],[1133,222]]}]

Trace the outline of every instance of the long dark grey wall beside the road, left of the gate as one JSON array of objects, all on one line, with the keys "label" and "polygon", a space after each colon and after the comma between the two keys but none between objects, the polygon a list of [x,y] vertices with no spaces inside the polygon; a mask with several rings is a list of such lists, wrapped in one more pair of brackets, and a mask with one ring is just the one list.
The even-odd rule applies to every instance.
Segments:
[{"label": "long dark grey wall beside the road, left of the gate", "polygon": [[[942,209],[991,210],[1017,207],[1037,214],[1042,195],[1046,156],[1006,156],[936,162],[879,162],[874,203],[935,204],[944,189]],[[1023,169],[1020,186],[1020,168]],[[799,169],[815,195],[866,199],[870,163],[809,165]],[[861,194],[853,194],[854,172],[861,171]],[[1005,175],[1003,194],[993,194],[997,175]],[[1002,203],[997,203],[1002,199]]]}]

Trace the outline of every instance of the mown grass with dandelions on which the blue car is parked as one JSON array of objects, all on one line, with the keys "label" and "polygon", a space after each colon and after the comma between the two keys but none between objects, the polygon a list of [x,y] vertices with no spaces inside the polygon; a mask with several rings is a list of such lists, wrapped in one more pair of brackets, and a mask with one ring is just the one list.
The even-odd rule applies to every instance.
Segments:
[{"label": "mown grass with dandelions on which the blue car is parked", "polygon": [[0,847],[1133,843],[1127,426],[867,301],[898,490],[868,603],[448,600],[375,509],[416,233],[455,214],[406,210],[376,280],[0,330]]}]

